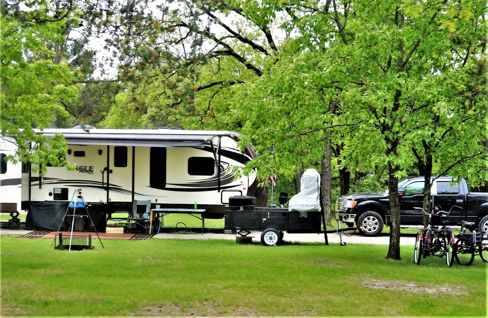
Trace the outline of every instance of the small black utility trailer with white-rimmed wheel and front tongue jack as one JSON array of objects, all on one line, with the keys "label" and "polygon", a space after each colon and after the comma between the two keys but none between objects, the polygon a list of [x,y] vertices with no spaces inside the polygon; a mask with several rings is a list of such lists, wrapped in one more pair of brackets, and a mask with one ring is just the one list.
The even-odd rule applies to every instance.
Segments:
[{"label": "small black utility trailer with white-rimmed wheel and front tongue jack", "polygon": [[[239,197],[237,201],[231,197],[231,205],[225,211],[225,233],[237,233],[245,237],[250,231],[260,231],[261,243],[266,246],[279,244],[283,239],[283,232],[287,233],[317,233],[324,234],[325,244],[328,245],[327,233],[339,233],[340,245],[342,232],[358,230],[357,227],[339,228],[327,231],[321,212],[307,212],[306,217],[298,211],[289,211],[287,208],[256,208],[251,197]],[[251,203],[251,204],[249,204]],[[280,202],[281,203],[281,202]],[[242,205],[239,205],[242,204]],[[322,230],[322,225],[323,229]]]}]

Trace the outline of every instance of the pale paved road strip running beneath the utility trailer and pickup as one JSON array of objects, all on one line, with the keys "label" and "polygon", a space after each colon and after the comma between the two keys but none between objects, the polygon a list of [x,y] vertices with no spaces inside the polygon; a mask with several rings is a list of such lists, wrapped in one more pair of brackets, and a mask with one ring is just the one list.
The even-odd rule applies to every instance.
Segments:
[{"label": "pale paved road strip running beneath the utility trailer and pickup", "polygon": [[[30,230],[10,230],[10,229],[0,229],[0,234],[18,235],[31,232]],[[235,234],[220,234],[220,233],[201,233],[197,234],[172,234],[172,233],[159,233],[154,236],[156,239],[233,239],[235,240]],[[254,231],[249,236],[254,237],[253,241],[259,242],[261,240],[261,232]],[[327,234],[327,239],[329,244],[339,244],[339,234],[329,233]],[[377,237],[364,237],[359,233],[347,232],[347,235],[342,234],[342,241],[346,244],[375,244],[375,245],[388,245],[389,244],[389,234],[382,234]],[[285,232],[283,237],[284,241],[287,242],[325,242],[323,234],[288,234]],[[400,238],[400,245],[414,245],[415,235],[413,234],[403,234]]]}]

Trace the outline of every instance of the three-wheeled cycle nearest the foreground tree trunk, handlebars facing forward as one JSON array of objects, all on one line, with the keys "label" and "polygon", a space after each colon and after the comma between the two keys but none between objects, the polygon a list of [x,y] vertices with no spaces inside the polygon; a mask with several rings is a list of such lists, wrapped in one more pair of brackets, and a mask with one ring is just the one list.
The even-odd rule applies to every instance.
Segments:
[{"label": "three-wheeled cycle nearest the foreground tree trunk, handlebars facing forward", "polygon": [[[415,239],[415,249],[414,249],[414,261],[417,265],[420,264],[422,257],[427,256],[446,256],[447,266],[452,266],[453,255],[452,255],[452,231],[447,224],[448,220],[444,220],[451,213],[451,207],[449,212],[441,211],[439,207],[434,207],[431,213],[426,213],[424,208],[414,207],[424,211],[424,214],[429,216],[427,227],[423,231],[417,233]],[[434,228],[437,227],[437,228]]]}]

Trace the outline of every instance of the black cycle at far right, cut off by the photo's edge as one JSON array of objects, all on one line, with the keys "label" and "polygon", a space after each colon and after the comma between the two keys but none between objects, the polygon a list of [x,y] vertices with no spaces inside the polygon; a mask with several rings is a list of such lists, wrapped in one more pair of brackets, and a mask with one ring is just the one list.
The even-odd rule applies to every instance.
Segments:
[{"label": "black cycle at far right, cut off by the photo's edge", "polygon": [[488,261],[488,235],[476,232],[474,222],[461,221],[461,233],[456,238],[453,254],[458,264],[471,265],[475,255],[479,255],[484,262]]}]

